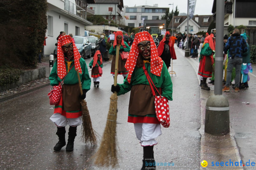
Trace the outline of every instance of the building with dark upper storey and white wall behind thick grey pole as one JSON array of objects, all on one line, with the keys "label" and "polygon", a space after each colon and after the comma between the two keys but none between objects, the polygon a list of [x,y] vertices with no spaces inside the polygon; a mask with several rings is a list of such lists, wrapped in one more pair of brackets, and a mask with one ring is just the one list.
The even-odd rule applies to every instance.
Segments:
[{"label": "building with dark upper storey and white wall behind thick grey pole", "polygon": [[[212,13],[216,22],[216,0],[212,5]],[[224,34],[228,34],[228,25],[237,27],[246,26],[246,33],[249,35],[249,45],[256,44],[256,1],[255,0],[226,0],[224,13]],[[243,32],[244,30],[242,30]]]}]

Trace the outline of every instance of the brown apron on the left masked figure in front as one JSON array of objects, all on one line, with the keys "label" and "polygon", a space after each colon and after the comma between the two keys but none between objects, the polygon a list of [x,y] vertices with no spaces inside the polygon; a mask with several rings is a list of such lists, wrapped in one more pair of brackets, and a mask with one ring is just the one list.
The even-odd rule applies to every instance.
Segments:
[{"label": "brown apron on the left masked figure in front", "polygon": [[77,84],[63,84],[62,85],[62,100],[63,110],[75,111],[81,109],[81,103],[79,99],[80,88]]}]

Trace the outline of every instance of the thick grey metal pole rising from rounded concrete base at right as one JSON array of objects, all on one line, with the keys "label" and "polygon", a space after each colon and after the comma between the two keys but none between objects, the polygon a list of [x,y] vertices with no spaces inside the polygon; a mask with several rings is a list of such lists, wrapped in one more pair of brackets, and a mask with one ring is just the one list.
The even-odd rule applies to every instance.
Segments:
[{"label": "thick grey metal pole rising from rounded concrete base at right", "polygon": [[215,48],[215,82],[214,94],[222,94],[222,78],[223,78],[223,35],[224,35],[224,1],[217,1],[216,12],[216,48]]}]

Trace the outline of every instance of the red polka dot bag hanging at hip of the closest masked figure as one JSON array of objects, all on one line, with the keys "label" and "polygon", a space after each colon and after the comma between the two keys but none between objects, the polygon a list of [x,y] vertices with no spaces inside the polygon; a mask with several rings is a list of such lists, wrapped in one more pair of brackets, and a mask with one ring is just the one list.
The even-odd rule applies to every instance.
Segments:
[{"label": "red polka dot bag hanging at hip of the closest masked figure", "polygon": [[156,96],[155,97],[155,111],[158,121],[163,127],[170,126],[169,119],[169,103],[166,97]]}]

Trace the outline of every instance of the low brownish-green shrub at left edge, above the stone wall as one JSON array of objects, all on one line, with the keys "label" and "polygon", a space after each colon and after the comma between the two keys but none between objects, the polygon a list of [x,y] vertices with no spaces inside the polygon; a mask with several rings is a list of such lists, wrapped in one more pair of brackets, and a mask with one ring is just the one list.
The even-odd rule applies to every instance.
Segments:
[{"label": "low brownish-green shrub at left edge, above the stone wall", "polygon": [[8,83],[14,83],[19,80],[19,76],[23,71],[20,69],[0,68],[0,85],[5,85]]}]

